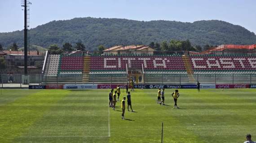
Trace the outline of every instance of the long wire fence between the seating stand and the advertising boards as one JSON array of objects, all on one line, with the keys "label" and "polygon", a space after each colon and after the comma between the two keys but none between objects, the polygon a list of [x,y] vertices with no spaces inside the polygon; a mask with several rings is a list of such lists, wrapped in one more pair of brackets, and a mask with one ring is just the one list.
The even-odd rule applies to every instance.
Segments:
[{"label": "long wire fence between the seating stand and the advertising boards", "polygon": [[[256,84],[256,74],[142,74],[133,77],[135,84]],[[22,74],[0,74],[0,87],[27,88],[28,85],[45,84],[126,84],[131,77],[126,74],[89,74],[89,76],[44,76],[31,74],[25,78]]]}]

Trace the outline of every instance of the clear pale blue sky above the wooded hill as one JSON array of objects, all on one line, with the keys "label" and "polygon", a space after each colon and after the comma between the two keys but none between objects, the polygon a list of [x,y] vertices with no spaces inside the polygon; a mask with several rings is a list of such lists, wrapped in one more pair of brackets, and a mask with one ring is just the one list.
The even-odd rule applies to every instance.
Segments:
[{"label": "clear pale blue sky above the wooded hill", "polygon": [[[74,17],[222,20],[256,33],[256,0],[30,0],[30,28]],[[0,32],[23,29],[21,0],[0,0]]]}]

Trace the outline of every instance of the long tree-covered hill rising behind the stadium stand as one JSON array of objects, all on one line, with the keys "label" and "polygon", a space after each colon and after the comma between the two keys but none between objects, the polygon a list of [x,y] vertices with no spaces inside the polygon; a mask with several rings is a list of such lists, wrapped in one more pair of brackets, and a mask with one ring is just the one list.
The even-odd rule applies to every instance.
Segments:
[{"label": "long tree-covered hill rising behind the stadium stand", "polygon": [[[225,21],[134,21],[117,18],[74,18],[51,21],[29,30],[31,44],[48,47],[64,42],[83,42],[86,49],[97,46],[145,44],[170,39],[189,39],[194,45],[255,44],[256,35],[239,25]],[[23,46],[23,31],[0,33],[4,47],[13,42]]]}]

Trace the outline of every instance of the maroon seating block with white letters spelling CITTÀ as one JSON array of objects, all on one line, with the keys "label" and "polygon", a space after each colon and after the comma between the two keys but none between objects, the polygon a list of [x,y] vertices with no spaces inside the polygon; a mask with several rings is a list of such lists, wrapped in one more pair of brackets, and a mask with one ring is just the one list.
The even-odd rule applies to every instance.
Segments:
[{"label": "maroon seating block with white letters spelling CITT\u00c0", "polygon": [[126,70],[138,68],[144,71],[185,71],[181,57],[176,56],[91,56],[90,70]]}]

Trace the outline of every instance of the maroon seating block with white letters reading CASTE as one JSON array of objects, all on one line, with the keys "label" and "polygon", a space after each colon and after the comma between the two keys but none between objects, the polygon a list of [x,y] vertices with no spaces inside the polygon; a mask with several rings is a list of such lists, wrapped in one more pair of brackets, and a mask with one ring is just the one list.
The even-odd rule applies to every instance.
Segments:
[{"label": "maroon seating block with white letters reading CASTE", "polygon": [[194,73],[255,73],[256,56],[190,56]]}]

